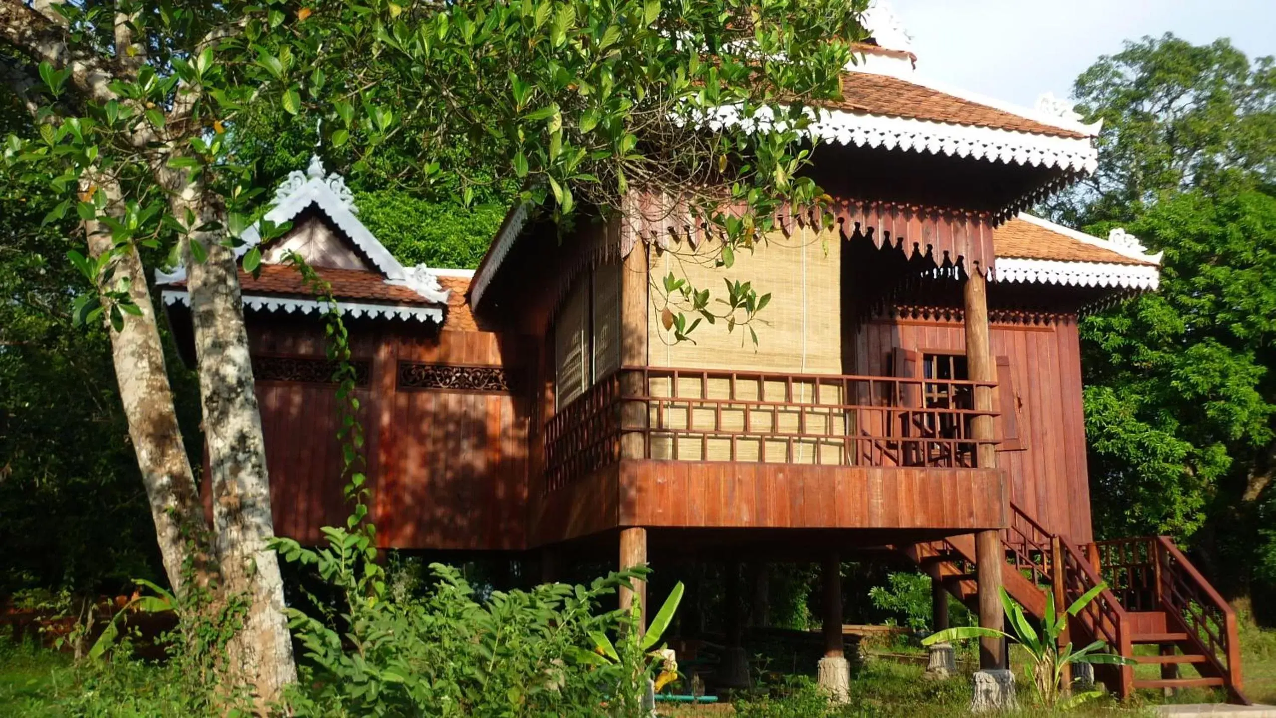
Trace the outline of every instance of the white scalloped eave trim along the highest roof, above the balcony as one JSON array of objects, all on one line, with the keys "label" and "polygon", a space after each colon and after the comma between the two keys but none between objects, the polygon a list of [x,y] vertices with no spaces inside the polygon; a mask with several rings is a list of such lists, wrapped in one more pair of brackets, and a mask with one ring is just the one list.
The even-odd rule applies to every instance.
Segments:
[{"label": "white scalloped eave trim along the highest roof, above the balcony", "polygon": [[[767,116],[769,114],[762,108],[748,122],[766,128],[769,124]],[[740,117],[734,107],[721,107],[708,120],[713,130],[736,124],[740,124]],[[1087,173],[1099,166],[1099,149],[1090,138],[1063,138],[843,110],[819,110],[806,131],[827,142],[856,147],[911,149],[1007,165],[1059,167]]]}]

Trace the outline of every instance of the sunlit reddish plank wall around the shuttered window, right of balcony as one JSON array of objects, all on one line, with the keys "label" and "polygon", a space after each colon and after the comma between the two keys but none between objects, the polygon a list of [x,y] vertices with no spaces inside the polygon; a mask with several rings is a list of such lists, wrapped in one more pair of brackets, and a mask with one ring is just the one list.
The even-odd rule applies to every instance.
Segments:
[{"label": "sunlit reddish plank wall around the shuttered window, right of balcony", "polygon": [[[990,341],[993,355],[1009,358],[1022,402],[1020,435],[1027,448],[998,453],[998,465],[1011,476],[1011,496],[1045,528],[1088,542],[1092,527],[1076,319],[1041,325],[994,323]],[[875,319],[860,325],[852,346],[849,372],[887,375],[887,357],[896,347],[965,352],[966,337],[960,321]]]}]

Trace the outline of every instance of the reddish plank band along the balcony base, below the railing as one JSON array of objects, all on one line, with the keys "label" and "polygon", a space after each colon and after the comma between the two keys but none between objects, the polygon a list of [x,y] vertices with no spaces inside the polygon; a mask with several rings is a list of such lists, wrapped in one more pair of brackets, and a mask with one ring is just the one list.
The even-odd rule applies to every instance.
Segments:
[{"label": "reddish plank band along the balcony base, below the railing", "polygon": [[956,467],[621,459],[537,504],[533,545],[628,525],[963,533],[1009,520],[1005,473]]}]

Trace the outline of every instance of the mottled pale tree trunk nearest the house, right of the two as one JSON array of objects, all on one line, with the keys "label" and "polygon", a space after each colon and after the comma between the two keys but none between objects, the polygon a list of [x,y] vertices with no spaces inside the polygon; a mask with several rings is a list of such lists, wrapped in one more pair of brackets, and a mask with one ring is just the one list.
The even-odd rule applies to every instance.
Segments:
[{"label": "mottled pale tree trunk nearest the house, right of the two", "polygon": [[[194,218],[191,230],[222,219],[219,208],[204,200],[202,187],[193,182],[179,187],[172,209],[181,222]],[[279,562],[269,548],[274,538],[271,483],[237,263],[219,240],[190,232],[188,241],[200,242],[208,258],[194,261],[189,244],[184,247],[188,291],[212,480],[214,547],[226,596],[248,602],[244,627],[228,647],[228,668],[236,680],[255,687],[258,708],[265,709],[281,698],[287,684],[296,681],[297,673]]]}]

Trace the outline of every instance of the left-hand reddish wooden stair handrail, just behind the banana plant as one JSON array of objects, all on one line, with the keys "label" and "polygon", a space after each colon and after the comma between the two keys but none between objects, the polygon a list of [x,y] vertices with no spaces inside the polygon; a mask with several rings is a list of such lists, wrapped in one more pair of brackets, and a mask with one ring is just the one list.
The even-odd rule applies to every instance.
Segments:
[{"label": "left-hand reddish wooden stair handrail, just behind the banana plant", "polygon": [[[1082,553],[1081,547],[1071,539],[1060,536],[1059,546],[1064,579],[1062,587],[1064,604],[1059,610],[1063,611],[1086,592],[1102,584],[1104,579]],[[1104,588],[1094,601],[1083,606],[1074,616],[1074,621],[1085,627],[1091,639],[1106,641],[1108,647],[1120,656],[1134,654],[1134,636],[1131,630],[1129,613],[1122,607],[1110,588]],[[1115,692],[1124,699],[1134,690],[1134,668],[1132,666],[1113,666],[1111,668],[1116,671],[1119,682],[1110,687],[1115,687]]]}]

